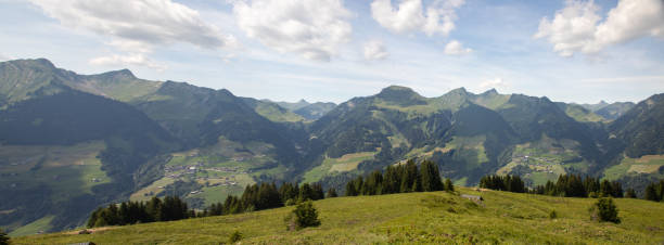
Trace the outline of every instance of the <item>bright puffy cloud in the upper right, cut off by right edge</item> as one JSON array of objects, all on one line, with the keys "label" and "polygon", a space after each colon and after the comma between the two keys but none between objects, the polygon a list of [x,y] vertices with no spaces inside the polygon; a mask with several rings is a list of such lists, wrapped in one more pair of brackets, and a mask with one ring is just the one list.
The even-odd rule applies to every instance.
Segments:
[{"label": "bright puffy cloud in the upper right, cut off by right edge", "polygon": [[546,38],[562,56],[598,53],[641,37],[664,37],[662,0],[620,0],[603,22],[593,1],[567,0],[552,20],[541,18],[535,38]]}]

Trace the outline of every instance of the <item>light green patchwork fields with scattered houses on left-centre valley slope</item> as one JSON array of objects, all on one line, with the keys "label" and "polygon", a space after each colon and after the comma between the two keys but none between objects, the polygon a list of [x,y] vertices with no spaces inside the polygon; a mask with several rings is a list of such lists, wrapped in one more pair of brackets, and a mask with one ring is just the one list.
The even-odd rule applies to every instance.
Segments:
[{"label": "light green patchwork fields with scattered houses on left-centre valley slope", "polygon": [[265,143],[241,144],[219,138],[215,145],[173,153],[164,166],[163,178],[132,193],[130,199],[146,201],[164,195],[167,190],[174,191],[179,181],[190,183],[181,194],[186,199],[199,199],[202,206],[224,202],[228,195],[242,194],[247,184],[255,183],[255,176],[278,176],[285,171],[282,166],[272,166],[272,145]]}]

